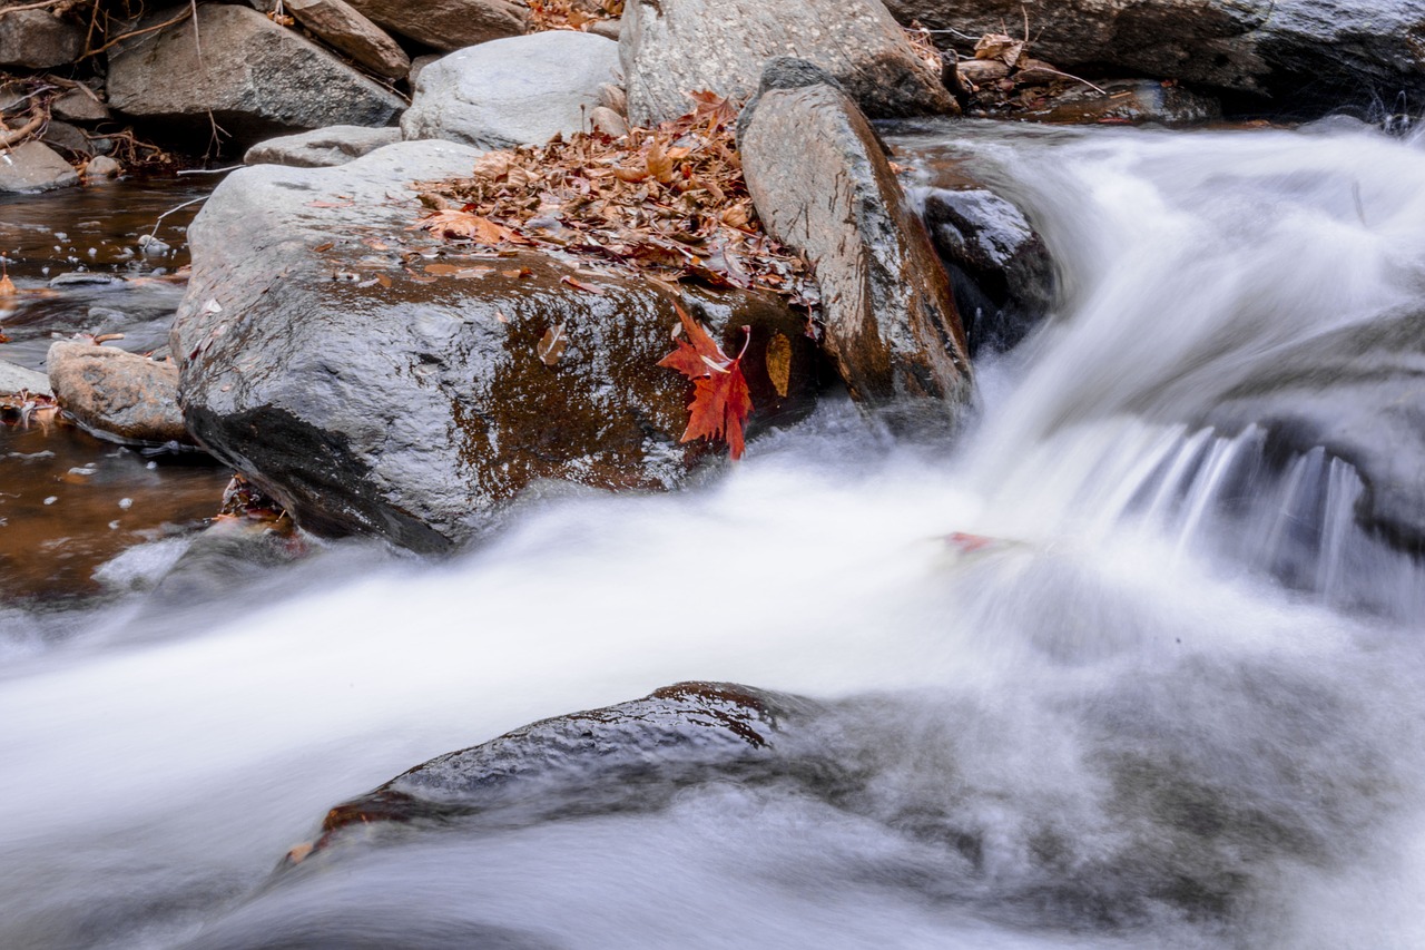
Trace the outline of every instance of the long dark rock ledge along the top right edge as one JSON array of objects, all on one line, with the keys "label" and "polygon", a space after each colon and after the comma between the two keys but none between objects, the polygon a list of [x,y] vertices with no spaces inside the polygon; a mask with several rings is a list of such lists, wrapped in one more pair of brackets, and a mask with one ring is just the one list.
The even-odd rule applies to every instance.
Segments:
[{"label": "long dark rock ledge along the top right edge", "polygon": [[1422,0],[886,0],[886,6],[901,23],[919,20],[969,36],[999,33],[1027,16],[1033,54],[1069,70],[1114,66],[1327,107],[1368,101],[1372,93],[1385,103],[1398,91],[1412,100],[1425,94]]}]

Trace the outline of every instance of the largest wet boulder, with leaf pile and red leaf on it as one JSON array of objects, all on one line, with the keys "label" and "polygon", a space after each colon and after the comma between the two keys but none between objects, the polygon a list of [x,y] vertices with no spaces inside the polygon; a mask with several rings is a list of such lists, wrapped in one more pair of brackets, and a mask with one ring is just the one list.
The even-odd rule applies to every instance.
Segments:
[{"label": "largest wet boulder, with leaf pile and red leaf on it", "polygon": [[[701,452],[677,441],[685,381],[657,367],[677,322],[665,291],[589,274],[577,280],[604,292],[577,291],[542,255],[460,257],[410,233],[410,183],[465,174],[476,154],[419,141],[339,168],[245,168],[190,228],[172,337],[187,419],[316,533],[447,551],[543,479],[668,489]],[[446,257],[408,270],[408,248]],[[815,347],[799,317],[755,294],[685,304],[727,347],[754,327],[760,415],[807,408]],[[567,348],[546,365],[537,347],[559,327]],[[792,348],[785,399],[765,369],[775,334]]]}]

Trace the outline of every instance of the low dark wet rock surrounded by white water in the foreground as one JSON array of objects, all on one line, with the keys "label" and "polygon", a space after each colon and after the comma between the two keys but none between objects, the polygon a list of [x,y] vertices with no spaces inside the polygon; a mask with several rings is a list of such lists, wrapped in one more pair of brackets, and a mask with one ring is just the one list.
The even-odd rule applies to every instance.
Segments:
[{"label": "low dark wet rock surrounded by white water in the foreground", "polygon": [[322,844],[370,822],[499,814],[504,824],[656,810],[684,786],[781,770],[808,700],[732,683],[675,683],[617,706],[544,719],[439,756],[333,807]]}]

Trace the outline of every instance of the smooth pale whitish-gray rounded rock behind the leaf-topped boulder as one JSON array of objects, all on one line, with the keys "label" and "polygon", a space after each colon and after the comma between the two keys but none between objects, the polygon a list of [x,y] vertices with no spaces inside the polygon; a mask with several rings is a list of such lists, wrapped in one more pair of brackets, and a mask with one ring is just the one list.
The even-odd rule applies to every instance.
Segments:
[{"label": "smooth pale whitish-gray rounded rock behind the leaf-topped boulder", "polygon": [[618,44],[553,30],[483,43],[420,71],[406,138],[446,138],[477,148],[542,145],[589,128],[598,87],[614,78]]}]

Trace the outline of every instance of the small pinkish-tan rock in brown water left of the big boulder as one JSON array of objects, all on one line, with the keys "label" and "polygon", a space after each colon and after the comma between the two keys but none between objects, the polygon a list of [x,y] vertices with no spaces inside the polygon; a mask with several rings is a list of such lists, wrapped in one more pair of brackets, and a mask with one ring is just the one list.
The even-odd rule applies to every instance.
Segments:
[{"label": "small pinkish-tan rock in brown water left of the big boulder", "polygon": [[58,341],[46,359],[60,407],[90,432],[128,445],[192,445],[178,411],[178,368],[137,354]]}]

